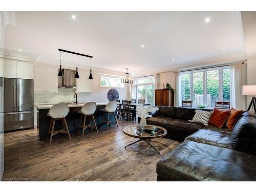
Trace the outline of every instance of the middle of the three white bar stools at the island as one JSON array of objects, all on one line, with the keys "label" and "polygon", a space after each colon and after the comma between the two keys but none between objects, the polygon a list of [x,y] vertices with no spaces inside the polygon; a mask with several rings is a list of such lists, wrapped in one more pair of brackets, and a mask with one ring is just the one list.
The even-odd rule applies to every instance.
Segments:
[{"label": "middle of the three white bar stools at the island", "polygon": [[[79,128],[82,128],[82,137],[83,137],[83,134],[84,134],[84,130],[86,130],[88,127],[89,128],[95,127],[97,133],[99,133],[98,129],[97,129],[96,122],[95,122],[95,119],[94,119],[94,116],[93,116],[93,114],[96,111],[96,108],[97,108],[97,106],[96,106],[95,102],[88,102],[88,103],[84,104],[82,106],[82,109],[78,112],[78,113],[81,114],[81,117],[80,117],[79,125],[77,127],[77,133],[79,131]],[[84,116],[83,125],[80,125],[81,122],[82,122],[82,117],[83,116]],[[89,120],[90,120],[90,124],[88,124],[88,125],[86,125],[86,118],[87,117],[89,117]],[[93,118],[94,126],[91,125],[91,117]]]}]

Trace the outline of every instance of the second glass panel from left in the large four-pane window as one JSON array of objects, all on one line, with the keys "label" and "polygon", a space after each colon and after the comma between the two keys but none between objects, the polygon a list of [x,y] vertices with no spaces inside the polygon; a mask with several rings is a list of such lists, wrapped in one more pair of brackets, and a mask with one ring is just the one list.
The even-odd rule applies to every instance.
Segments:
[{"label": "second glass panel from left in the large four-pane window", "polygon": [[203,72],[193,73],[193,106],[204,104]]}]

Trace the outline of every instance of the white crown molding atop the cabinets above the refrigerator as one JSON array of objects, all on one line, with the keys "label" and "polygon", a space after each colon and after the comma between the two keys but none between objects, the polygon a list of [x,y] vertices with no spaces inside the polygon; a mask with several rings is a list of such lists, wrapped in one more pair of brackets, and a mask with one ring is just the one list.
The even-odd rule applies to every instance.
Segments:
[{"label": "white crown molding atop the cabinets above the refrigerator", "polygon": [[5,59],[35,62],[35,60],[38,56],[39,55],[32,54],[32,53],[25,53],[25,52],[10,50],[10,49],[4,49],[4,58]]}]

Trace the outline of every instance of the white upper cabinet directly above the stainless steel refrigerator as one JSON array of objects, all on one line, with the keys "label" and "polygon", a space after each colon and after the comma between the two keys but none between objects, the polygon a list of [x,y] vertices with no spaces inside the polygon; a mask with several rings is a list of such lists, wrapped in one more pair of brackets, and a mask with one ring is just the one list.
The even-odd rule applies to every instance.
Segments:
[{"label": "white upper cabinet directly above the stainless steel refrigerator", "polygon": [[4,77],[33,79],[33,63],[4,59]]}]

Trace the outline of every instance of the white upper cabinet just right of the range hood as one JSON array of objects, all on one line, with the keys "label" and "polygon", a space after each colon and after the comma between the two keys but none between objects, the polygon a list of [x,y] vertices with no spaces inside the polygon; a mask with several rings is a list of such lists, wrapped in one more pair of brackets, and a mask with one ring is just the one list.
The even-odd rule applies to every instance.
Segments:
[{"label": "white upper cabinet just right of the range hood", "polygon": [[89,73],[79,71],[79,78],[76,79],[77,92],[93,92],[93,81],[88,79]]}]

